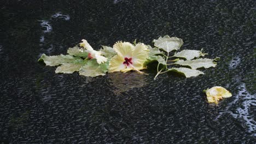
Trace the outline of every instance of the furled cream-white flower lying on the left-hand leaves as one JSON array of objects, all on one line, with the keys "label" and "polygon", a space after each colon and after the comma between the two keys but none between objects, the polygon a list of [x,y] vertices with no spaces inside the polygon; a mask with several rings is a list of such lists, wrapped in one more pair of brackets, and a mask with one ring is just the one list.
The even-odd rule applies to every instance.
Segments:
[{"label": "furled cream-white flower lying on the left-hand leaves", "polygon": [[107,58],[101,56],[100,51],[95,51],[94,49],[92,49],[91,45],[85,39],[83,39],[82,41],[83,41],[83,43],[80,43],[80,46],[84,47],[84,49],[86,49],[85,51],[88,52],[89,58],[91,58],[91,59],[96,58],[98,64],[107,62]]}]

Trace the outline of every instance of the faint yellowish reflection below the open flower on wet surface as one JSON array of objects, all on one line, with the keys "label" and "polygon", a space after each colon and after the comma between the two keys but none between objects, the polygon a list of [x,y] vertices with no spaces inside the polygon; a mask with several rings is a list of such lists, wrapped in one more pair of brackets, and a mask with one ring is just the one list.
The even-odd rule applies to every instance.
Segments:
[{"label": "faint yellowish reflection below the open flower on wet surface", "polygon": [[145,75],[136,73],[109,73],[109,83],[115,95],[129,91],[132,88],[139,88],[148,85]]}]

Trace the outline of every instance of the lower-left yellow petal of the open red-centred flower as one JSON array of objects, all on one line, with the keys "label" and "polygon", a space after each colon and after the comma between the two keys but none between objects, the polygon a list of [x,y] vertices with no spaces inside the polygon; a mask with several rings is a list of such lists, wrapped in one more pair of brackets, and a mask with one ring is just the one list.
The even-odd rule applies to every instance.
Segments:
[{"label": "lower-left yellow petal of the open red-centred flower", "polygon": [[124,61],[125,59],[122,56],[115,55],[112,57],[109,62],[109,72],[124,70],[126,68],[126,65],[123,64]]}]

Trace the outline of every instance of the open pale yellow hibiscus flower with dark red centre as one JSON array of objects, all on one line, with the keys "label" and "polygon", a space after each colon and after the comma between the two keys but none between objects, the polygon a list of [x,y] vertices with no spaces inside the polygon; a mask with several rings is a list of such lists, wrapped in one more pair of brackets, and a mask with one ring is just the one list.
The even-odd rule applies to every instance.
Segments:
[{"label": "open pale yellow hibiscus flower with dark red centre", "polygon": [[148,49],[146,45],[136,44],[134,46],[131,43],[122,43],[118,41],[114,44],[113,48],[118,55],[110,59],[109,72],[127,72],[130,70],[139,71],[145,69],[143,63],[148,58]]}]

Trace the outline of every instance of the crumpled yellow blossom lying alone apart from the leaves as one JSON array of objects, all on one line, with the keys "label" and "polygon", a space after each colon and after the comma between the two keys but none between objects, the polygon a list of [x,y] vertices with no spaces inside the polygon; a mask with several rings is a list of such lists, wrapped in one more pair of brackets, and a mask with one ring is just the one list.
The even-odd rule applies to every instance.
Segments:
[{"label": "crumpled yellow blossom lying alone apart from the leaves", "polygon": [[210,89],[206,89],[206,95],[208,103],[218,104],[218,101],[222,98],[229,98],[232,94],[223,87],[212,87]]}]

